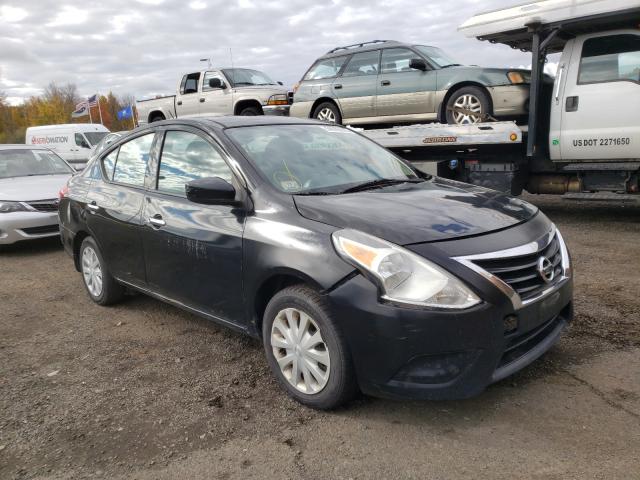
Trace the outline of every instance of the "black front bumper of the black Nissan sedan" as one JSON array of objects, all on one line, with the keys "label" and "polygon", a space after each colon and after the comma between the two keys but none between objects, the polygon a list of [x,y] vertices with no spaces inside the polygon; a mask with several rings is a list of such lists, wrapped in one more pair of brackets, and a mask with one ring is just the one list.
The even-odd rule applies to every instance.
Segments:
[{"label": "black front bumper of the black Nissan sedan", "polygon": [[572,320],[572,294],[568,278],[517,311],[506,297],[463,311],[425,310],[381,303],[357,275],[329,298],[364,393],[439,400],[477,395],[540,357]]}]

